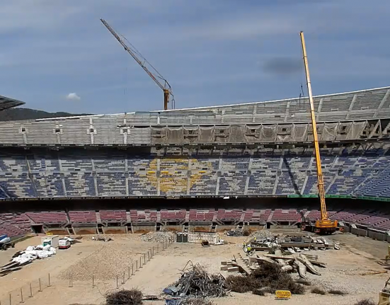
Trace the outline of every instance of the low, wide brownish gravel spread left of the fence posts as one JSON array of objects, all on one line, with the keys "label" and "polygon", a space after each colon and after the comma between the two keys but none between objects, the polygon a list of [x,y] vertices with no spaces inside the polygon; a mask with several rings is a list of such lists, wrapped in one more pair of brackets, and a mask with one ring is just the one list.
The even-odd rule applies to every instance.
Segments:
[{"label": "low, wide brownish gravel spread left of the fence posts", "polygon": [[132,265],[134,253],[122,251],[112,246],[104,245],[100,250],[91,253],[79,260],[66,270],[59,273],[61,280],[69,280],[70,275],[74,281],[114,280],[117,275],[121,278],[123,272],[128,272]]}]

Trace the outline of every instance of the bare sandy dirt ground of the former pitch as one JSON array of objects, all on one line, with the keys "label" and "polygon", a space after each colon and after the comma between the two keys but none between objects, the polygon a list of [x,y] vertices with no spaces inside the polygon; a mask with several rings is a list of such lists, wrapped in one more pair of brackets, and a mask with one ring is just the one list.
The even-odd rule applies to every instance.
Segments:
[{"label": "bare sandy dirt ground of the former pitch", "polygon": [[[133,261],[139,261],[143,253],[156,246],[152,243],[141,241],[139,236],[114,236],[115,240],[109,243],[117,254],[120,255],[122,249],[134,252]],[[199,244],[193,243],[173,243],[166,250],[154,255],[150,261],[147,260],[139,271],[121,284],[122,276],[119,278],[119,289],[129,289],[137,287],[144,294],[161,294],[162,289],[169,284],[176,282],[180,277],[180,270],[190,260],[193,263],[200,263],[210,273],[219,271],[222,260],[230,260],[233,255],[241,252],[243,237],[223,237],[228,243],[223,246],[211,246],[202,248]],[[311,251],[311,254],[319,255],[319,260],[327,264],[325,269],[321,269],[321,276],[309,275],[309,280],[314,285],[325,290],[338,289],[348,292],[345,296],[317,295],[310,291],[304,295],[293,295],[288,302],[294,304],[316,304],[319,301],[326,301],[327,304],[351,305],[355,301],[371,298],[375,302],[378,300],[378,293],[384,287],[384,282],[389,277],[388,274],[372,275],[369,273],[383,271],[384,268],[377,264],[377,260],[383,259],[387,253],[387,243],[383,241],[373,241],[369,238],[356,237],[350,234],[338,234],[329,237],[340,242],[340,251]],[[103,243],[91,241],[85,237],[82,243],[75,244],[69,250],[57,251],[57,255],[45,260],[37,260],[34,263],[23,267],[22,270],[0,277],[0,301],[1,305],[9,304],[9,292],[12,292],[12,304],[20,301],[20,288],[23,288],[23,300],[28,305],[68,305],[68,304],[103,304],[104,294],[116,289],[116,280],[97,280],[92,287],[92,280],[74,281],[73,287],[69,287],[69,280],[60,280],[59,275],[67,268],[76,264],[79,260],[85,260],[88,255],[94,253],[104,246]],[[8,263],[9,259],[18,250],[32,246],[40,242],[40,237],[33,237],[22,241],[16,245],[15,249],[0,252],[0,265]],[[143,258],[142,258],[143,263]],[[127,266],[123,270],[127,270]],[[135,265],[134,265],[135,268]],[[121,270],[121,268],[119,268]],[[50,272],[51,287],[46,287],[42,292],[34,292],[34,297],[28,297],[29,282],[36,282],[42,277],[45,282],[47,274]],[[367,274],[368,273],[368,274]],[[367,274],[367,275],[366,275]],[[222,275],[226,273],[222,272]],[[46,283],[46,282],[45,282]],[[260,304],[267,302],[276,304],[272,295],[258,297],[253,294],[231,293],[231,297],[214,299],[214,304]],[[149,301],[146,304],[164,304],[164,301]]]}]

